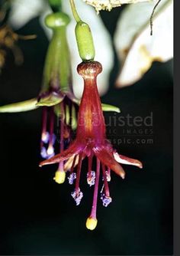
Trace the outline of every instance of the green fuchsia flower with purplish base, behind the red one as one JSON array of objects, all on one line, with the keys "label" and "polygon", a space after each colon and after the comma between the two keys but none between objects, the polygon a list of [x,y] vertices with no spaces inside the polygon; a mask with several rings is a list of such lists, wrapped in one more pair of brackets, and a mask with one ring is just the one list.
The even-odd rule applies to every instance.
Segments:
[{"label": "green fuchsia flower with purplish base, behind the red one", "polygon": [[[43,107],[40,155],[44,159],[54,156],[56,116],[59,127],[60,153],[65,144],[67,145],[71,140],[72,130],[76,130],[76,109],[80,100],[75,97],[72,90],[71,62],[66,41],[66,26],[69,21],[69,16],[60,11],[47,15],[45,20],[47,27],[53,30],[53,37],[44,64],[40,94],[31,100],[0,107],[0,113],[23,112]],[[102,104],[101,107],[105,111],[120,112],[117,107],[107,104]],[[64,182],[64,170],[67,168],[68,165],[64,166],[63,162],[59,163],[55,175],[56,182]]]}]

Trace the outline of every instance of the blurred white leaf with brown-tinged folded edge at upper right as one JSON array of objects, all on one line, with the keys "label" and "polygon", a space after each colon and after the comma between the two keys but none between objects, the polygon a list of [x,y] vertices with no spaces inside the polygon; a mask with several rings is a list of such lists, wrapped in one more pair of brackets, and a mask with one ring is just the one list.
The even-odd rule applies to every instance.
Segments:
[{"label": "blurred white leaf with brown-tinged folded edge at upper right", "polygon": [[117,22],[114,44],[121,61],[117,87],[134,84],[153,61],[165,62],[173,56],[173,2],[159,3],[151,36],[149,18],[156,2],[129,5]]}]

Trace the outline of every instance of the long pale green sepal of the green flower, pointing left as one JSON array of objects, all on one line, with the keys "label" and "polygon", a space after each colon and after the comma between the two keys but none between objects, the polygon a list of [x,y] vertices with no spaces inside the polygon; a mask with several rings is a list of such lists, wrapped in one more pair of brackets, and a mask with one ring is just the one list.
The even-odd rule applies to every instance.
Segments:
[{"label": "long pale green sepal of the green flower, pointing left", "polygon": [[37,109],[37,98],[11,103],[0,107],[0,113],[16,113]]}]

